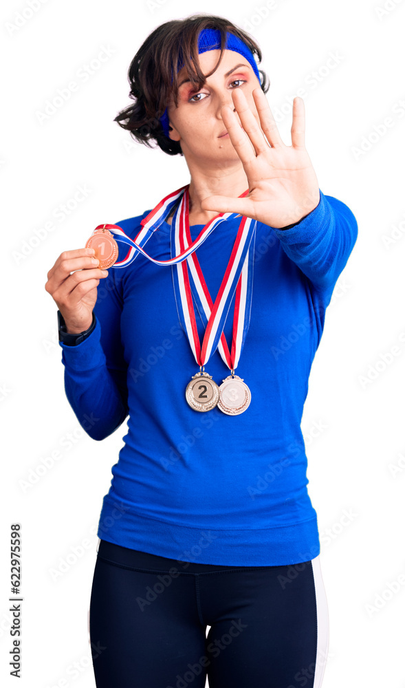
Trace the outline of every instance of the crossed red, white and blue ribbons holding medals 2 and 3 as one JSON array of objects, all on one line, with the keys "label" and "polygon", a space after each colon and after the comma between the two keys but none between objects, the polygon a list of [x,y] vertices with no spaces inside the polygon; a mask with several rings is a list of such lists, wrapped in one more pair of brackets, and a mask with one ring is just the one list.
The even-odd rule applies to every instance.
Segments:
[{"label": "crossed red, white and blue ribbons holding medals 2 and 3", "polygon": [[[195,360],[200,366],[206,364],[217,347],[221,358],[231,371],[238,365],[250,323],[255,232],[256,221],[243,216],[215,303],[212,303],[195,252],[186,260],[177,263],[176,268],[173,267],[173,286],[179,320],[188,336]],[[171,255],[186,255],[190,246],[193,246],[193,243],[188,221],[187,188],[171,224]],[[223,327],[235,290],[232,348],[229,352]],[[197,332],[193,297],[201,320],[206,326],[202,346]]]}]

